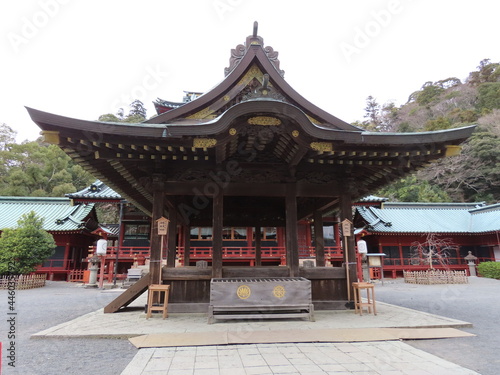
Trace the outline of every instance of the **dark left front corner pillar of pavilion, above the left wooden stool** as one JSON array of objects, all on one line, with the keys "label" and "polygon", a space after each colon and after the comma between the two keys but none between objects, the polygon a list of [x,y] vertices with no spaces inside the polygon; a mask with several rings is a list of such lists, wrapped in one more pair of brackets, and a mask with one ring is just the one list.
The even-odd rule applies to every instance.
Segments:
[{"label": "dark left front corner pillar of pavilion, above the left wooden stool", "polygon": [[164,182],[161,177],[153,177],[153,217],[151,228],[151,250],[149,254],[149,272],[152,284],[161,284],[161,241],[158,235],[158,223],[163,216],[163,205],[165,203]]}]

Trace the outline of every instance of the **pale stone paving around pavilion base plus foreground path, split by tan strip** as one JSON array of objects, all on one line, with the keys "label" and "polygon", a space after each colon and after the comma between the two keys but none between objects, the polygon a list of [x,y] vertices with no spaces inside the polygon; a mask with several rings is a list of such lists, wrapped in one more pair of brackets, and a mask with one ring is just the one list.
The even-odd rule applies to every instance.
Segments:
[{"label": "pale stone paving around pavilion base plus foreground path, split by tan strip", "polygon": [[[116,293],[117,291],[109,291]],[[120,292],[120,291],[118,291]],[[248,332],[293,330],[294,343],[209,345],[138,350],[122,375],[153,374],[477,374],[401,341],[300,343],[301,330],[377,327],[470,327],[470,323],[377,302],[377,315],[359,316],[352,310],[316,311],[306,320],[245,320],[207,324],[206,314],[169,314],[147,320],[146,295],[131,309],[104,314],[102,309],[41,331],[33,338],[130,338],[158,333]],[[135,307],[135,309],[134,309]]]}]

